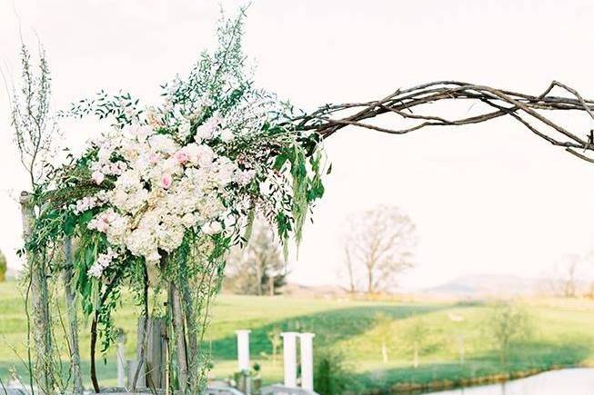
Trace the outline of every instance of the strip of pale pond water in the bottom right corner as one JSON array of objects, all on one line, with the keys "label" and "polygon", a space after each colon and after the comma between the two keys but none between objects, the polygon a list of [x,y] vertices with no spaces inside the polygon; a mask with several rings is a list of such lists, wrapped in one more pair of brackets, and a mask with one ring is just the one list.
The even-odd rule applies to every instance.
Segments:
[{"label": "strip of pale pond water in the bottom right corner", "polygon": [[564,369],[526,379],[426,395],[594,395],[594,369]]}]

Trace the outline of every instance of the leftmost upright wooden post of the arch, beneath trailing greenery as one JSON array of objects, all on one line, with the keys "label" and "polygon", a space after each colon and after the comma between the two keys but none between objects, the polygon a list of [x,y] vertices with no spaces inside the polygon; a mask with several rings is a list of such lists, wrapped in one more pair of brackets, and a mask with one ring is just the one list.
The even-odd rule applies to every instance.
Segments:
[{"label": "leftmost upright wooden post of the arch, beneath trailing greenery", "polygon": [[[35,207],[31,194],[23,191],[19,199],[23,218],[23,240],[27,242],[33,231]],[[45,394],[54,393],[54,375],[52,362],[52,334],[49,317],[49,297],[47,292],[47,273],[45,257],[26,254],[26,264],[31,276],[31,307],[33,309],[33,338],[35,344],[29,344],[36,350],[35,372],[39,390]],[[31,372],[33,373],[33,372]]]}]

